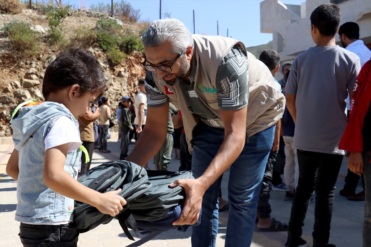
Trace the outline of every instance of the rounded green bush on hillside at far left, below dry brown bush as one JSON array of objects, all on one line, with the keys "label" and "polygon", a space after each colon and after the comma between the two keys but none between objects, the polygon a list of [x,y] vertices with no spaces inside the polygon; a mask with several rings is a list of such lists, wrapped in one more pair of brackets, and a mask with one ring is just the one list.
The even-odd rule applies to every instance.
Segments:
[{"label": "rounded green bush on hillside at far left, below dry brown bush", "polygon": [[30,29],[30,24],[18,20],[5,24],[1,30],[10,40],[10,46],[22,56],[33,56],[40,53],[40,35]]}]

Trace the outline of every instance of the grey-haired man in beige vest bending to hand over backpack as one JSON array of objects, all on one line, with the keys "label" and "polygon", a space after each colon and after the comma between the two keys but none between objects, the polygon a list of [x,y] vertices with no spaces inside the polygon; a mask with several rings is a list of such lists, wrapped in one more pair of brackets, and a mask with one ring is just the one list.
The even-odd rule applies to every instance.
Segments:
[{"label": "grey-haired man in beige vest bending to hand over backpack", "polygon": [[283,94],[269,69],[237,40],[191,35],[176,19],[154,21],[141,39],[148,70],[147,124],[127,160],[143,165],[160,149],[171,101],[183,114],[196,178],[170,184],[187,194],[173,224],[196,223],[202,206],[192,246],[216,246],[218,193],[230,167],[225,246],[249,246],[274,125],[285,107]]}]

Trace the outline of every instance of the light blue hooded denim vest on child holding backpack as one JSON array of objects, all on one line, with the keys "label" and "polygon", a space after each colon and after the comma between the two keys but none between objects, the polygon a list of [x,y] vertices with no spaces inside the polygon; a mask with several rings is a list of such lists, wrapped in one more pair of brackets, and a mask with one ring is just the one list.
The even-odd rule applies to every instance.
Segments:
[{"label": "light blue hooded denim vest on child holding backpack", "polygon": [[[61,116],[69,117],[78,130],[78,121],[70,111],[55,102],[21,107],[12,121],[13,141],[19,148],[17,211],[15,219],[24,223],[48,223],[73,219],[74,200],[56,193],[44,184],[45,137]],[[81,150],[69,151],[64,170],[76,179]]]}]

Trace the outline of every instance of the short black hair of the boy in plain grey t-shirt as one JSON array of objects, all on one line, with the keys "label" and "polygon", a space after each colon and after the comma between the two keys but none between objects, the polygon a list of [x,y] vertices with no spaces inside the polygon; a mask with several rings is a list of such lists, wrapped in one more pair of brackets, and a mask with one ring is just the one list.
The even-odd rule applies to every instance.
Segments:
[{"label": "short black hair of the boy in plain grey t-shirt", "polygon": [[334,36],[341,21],[341,10],[333,3],[324,3],[316,7],[311,14],[312,25],[318,28],[321,36]]}]

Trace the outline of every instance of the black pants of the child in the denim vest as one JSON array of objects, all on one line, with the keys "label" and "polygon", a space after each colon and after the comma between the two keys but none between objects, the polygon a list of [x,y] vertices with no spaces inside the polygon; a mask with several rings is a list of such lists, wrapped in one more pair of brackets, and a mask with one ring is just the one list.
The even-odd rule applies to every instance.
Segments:
[{"label": "black pants of the child in the denim vest", "polygon": [[79,232],[65,225],[33,225],[21,223],[19,237],[24,247],[76,247]]}]

